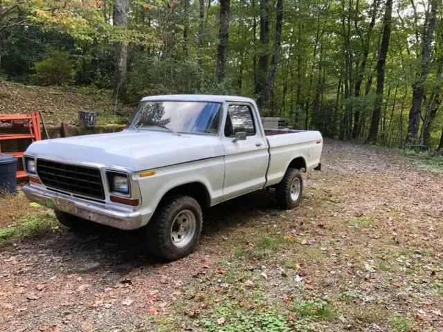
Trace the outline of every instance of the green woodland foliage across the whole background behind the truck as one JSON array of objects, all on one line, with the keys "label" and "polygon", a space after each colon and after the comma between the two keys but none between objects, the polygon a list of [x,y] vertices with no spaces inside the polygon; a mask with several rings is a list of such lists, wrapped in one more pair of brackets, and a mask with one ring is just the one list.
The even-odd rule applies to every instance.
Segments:
[{"label": "green woodland foliage across the whole background behind the truck", "polygon": [[[260,1],[230,1],[228,57],[224,82],[215,81],[219,44],[219,2],[205,5],[199,44],[199,1],[129,1],[127,28],[114,26],[113,1],[2,1],[0,17],[0,75],[30,82],[32,68],[48,63],[48,46],[64,49],[76,69],[73,84],[111,89],[114,86],[114,43],[128,45],[130,102],[159,93],[244,95],[257,100],[260,59],[271,54],[275,39],[275,1],[269,2],[269,43],[260,41]],[[374,86],[384,1],[378,1],[370,30],[372,1],[284,1],[282,43],[269,107],[263,116],[278,116],[295,129],[318,129],[323,136],[364,140],[374,107]],[[428,7],[410,1],[395,4],[386,58],[386,82],[381,107],[379,143],[403,147],[408,129],[412,85],[422,68],[423,26]],[[11,9],[11,11],[8,11]],[[429,74],[424,87],[422,116],[433,94],[441,94],[443,25],[437,10]],[[415,17],[417,15],[417,17]],[[352,55],[347,59],[347,54]],[[418,55],[418,56],[417,56]],[[367,56],[367,57],[366,57]],[[42,63],[43,60],[43,63]],[[363,63],[365,68],[363,70]],[[39,73],[37,84],[61,84]],[[71,74],[67,75],[70,82]],[[269,69],[264,76],[269,76]],[[360,93],[356,82],[361,78]],[[258,89],[260,90],[260,89]],[[435,99],[441,103],[441,98]],[[431,105],[432,106],[432,105]],[[438,106],[438,105],[437,105]],[[440,142],[443,112],[437,107],[426,145]],[[359,126],[354,126],[359,115]],[[422,122],[421,122],[422,125]],[[359,130],[354,133],[354,127]],[[357,128],[356,128],[357,129]],[[417,144],[420,143],[417,138]]]}]

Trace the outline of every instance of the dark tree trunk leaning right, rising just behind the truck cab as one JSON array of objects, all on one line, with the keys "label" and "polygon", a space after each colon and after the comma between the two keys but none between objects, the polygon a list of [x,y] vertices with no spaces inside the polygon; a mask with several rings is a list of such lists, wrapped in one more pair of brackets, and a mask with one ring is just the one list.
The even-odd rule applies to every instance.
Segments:
[{"label": "dark tree trunk leaning right, rising just behind the truck cab", "polygon": [[262,95],[262,107],[269,108],[269,98],[274,84],[275,72],[277,71],[278,57],[280,56],[280,44],[282,39],[283,0],[277,0],[277,15],[275,17],[275,41],[271,58],[271,69],[268,81]]}]

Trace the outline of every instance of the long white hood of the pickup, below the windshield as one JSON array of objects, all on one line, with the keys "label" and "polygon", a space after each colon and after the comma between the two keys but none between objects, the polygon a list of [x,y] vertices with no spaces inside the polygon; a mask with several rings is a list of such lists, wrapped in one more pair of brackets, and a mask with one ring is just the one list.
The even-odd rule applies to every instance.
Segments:
[{"label": "long white hood of the pickup, below the windshield", "polygon": [[88,162],[127,167],[134,171],[164,167],[224,155],[217,136],[177,136],[168,131],[124,130],[119,133],[40,140],[26,153],[72,163]]}]

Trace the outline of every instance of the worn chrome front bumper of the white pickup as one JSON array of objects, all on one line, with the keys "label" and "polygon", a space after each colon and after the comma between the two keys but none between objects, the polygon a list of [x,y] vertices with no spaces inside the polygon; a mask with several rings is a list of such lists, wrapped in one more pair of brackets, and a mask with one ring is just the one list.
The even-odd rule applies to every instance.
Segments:
[{"label": "worn chrome front bumper of the white pickup", "polygon": [[80,218],[95,223],[102,223],[120,230],[135,230],[143,226],[143,218],[140,212],[117,210],[114,207],[105,206],[105,204],[77,199],[31,185],[24,185],[22,190],[30,201],[53,210],[80,216]]}]

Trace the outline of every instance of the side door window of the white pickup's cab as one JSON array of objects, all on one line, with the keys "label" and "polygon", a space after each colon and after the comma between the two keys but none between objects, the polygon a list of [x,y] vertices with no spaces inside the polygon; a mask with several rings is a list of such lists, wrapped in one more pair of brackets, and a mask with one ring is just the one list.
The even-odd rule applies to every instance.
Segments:
[{"label": "side door window of the white pickup's cab", "polygon": [[255,124],[251,108],[247,105],[229,105],[224,135],[226,137],[233,137],[239,131],[246,132],[246,136],[255,135]]}]

